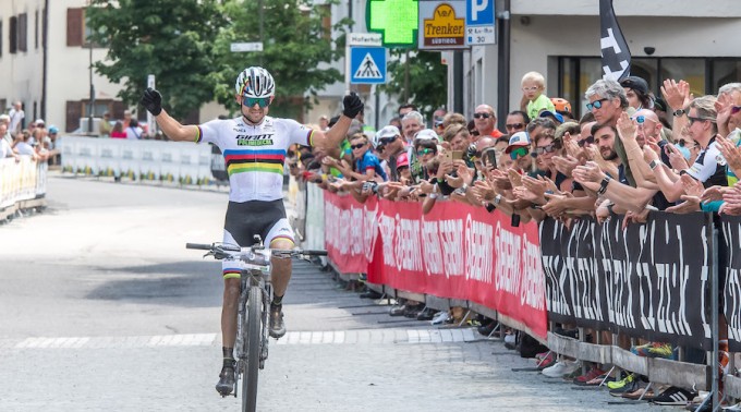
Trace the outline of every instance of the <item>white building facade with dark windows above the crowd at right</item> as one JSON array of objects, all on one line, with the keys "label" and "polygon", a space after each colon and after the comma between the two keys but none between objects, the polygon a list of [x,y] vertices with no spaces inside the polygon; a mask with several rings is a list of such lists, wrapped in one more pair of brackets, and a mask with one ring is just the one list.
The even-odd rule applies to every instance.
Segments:
[{"label": "white building facade with dark windows above the crowd at right", "polygon": [[[449,107],[462,93],[464,114],[486,102],[502,119],[520,106],[522,75],[537,71],[549,97],[568,99],[583,114],[584,92],[602,77],[599,2],[496,0],[496,7],[498,44],[458,51],[463,69],[449,68]],[[631,74],[644,77],[656,96],[665,78],[687,80],[695,96],[741,81],[741,44],[733,40],[741,32],[738,1],[614,0],[614,8],[631,51]],[[452,60],[452,52],[446,54]],[[452,87],[459,75],[462,90]]]}]

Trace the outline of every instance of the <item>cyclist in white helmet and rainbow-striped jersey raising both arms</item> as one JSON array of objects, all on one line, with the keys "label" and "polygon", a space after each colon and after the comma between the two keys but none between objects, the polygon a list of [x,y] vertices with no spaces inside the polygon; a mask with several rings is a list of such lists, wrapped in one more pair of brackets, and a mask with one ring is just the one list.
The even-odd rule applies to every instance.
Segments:
[{"label": "cyclist in white helmet and rainbow-striped jersey raising both arms", "polygon": [[[339,121],[328,131],[311,130],[294,120],[268,116],[276,95],[270,73],[257,66],[247,68],[236,77],[235,99],[240,116],[211,120],[201,125],[183,125],[162,109],[162,96],[147,88],[142,105],[156,117],[157,124],[173,141],[212,143],[217,145],[229,173],[229,206],[224,221],[223,242],[251,246],[259,234],[271,249],[293,249],[293,230],[283,207],[283,161],[292,144],[338,147],[345,138],[352,119],[363,110],[355,93],[344,96],[344,109]],[[275,298],[270,304],[270,336],[286,335],[282,300],[291,278],[291,259],[272,260]],[[240,294],[240,271],[233,262],[223,260],[223,305],[221,335],[223,365],[216,390],[229,395],[234,386],[233,348],[236,337],[236,312]]]}]

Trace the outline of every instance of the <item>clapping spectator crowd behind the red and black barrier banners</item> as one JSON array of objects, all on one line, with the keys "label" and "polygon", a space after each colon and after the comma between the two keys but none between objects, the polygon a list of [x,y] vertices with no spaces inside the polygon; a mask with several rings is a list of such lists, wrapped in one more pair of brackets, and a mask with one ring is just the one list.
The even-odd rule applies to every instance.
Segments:
[{"label": "clapping spectator crowd behind the red and black barrier banners", "polygon": [[[499,123],[490,105],[470,117],[434,112],[425,119],[412,104],[377,132],[359,116],[342,146],[331,150],[296,146],[289,153],[290,172],[329,192],[357,202],[377,196],[417,202],[427,214],[439,202],[458,202],[488,211],[499,209],[512,225],[546,218],[566,223],[587,216],[602,223],[645,222],[652,210],[671,214],[708,211],[741,215],[741,83],[726,84],[715,95],[694,96],[682,80],[664,80],[660,95],[636,76],[620,82],[598,80],[584,94],[586,112],[576,118],[573,104],[548,97],[545,77],[522,77],[522,100]],[[327,119],[323,119],[327,120]],[[337,118],[329,119],[331,126]],[[506,132],[506,133],[503,133]],[[700,217],[699,217],[700,218]],[[368,291],[363,296],[379,298]],[[489,336],[505,328],[465,311],[436,312],[421,302],[403,301],[391,316],[433,324],[469,323]],[[726,325],[720,316],[720,365],[728,369]],[[554,332],[575,336],[569,325]],[[600,334],[587,330],[587,339]],[[603,343],[640,356],[677,359],[675,342],[629,340],[603,334]],[[524,334],[507,329],[506,342],[536,358],[545,376],[567,377],[580,386],[607,384],[614,396],[696,409],[705,393],[694,388],[649,386],[645,376],[585,364],[539,348]],[[689,353],[689,351],[688,351]],[[704,363],[704,352],[694,356]],[[688,361],[693,362],[688,355]]]}]

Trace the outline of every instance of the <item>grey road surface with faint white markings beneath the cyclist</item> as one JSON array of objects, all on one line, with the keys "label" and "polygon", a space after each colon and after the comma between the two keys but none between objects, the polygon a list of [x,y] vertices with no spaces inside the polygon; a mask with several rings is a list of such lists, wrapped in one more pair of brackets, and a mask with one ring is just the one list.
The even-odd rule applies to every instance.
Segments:
[{"label": "grey road surface with faint white markings beneath the cyclist", "polygon": [[[51,174],[49,207],[0,226],[0,411],[236,411],[219,397],[224,191]],[[573,390],[473,329],[391,318],[296,263],[260,411],[636,411]],[[618,401],[619,402],[619,401]]]}]

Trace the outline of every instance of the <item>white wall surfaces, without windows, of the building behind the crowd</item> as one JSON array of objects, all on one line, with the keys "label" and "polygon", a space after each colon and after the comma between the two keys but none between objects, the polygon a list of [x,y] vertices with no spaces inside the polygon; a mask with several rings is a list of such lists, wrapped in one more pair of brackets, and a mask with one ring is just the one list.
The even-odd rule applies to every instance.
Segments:
[{"label": "white wall surfaces, without windows, of the building behind the crowd", "polygon": [[[500,12],[502,0],[497,1]],[[615,12],[633,57],[741,57],[741,8],[736,0],[642,1],[616,0]],[[692,17],[689,17],[692,16]],[[501,39],[499,39],[500,41]],[[558,90],[555,57],[599,57],[599,7],[595,0],[512,0],[509,110],[518,109],[520,80],[529,71],[546,74],[549,97]],[[473,113],[484,90],[485,102],[496,107],[498,45],[474,47],[464,62],[464,75],[477,70],[485,49],[484,75],[465,90],[465,116]],[[449,65],[452,72],[452,65]],[[451,73],[451,76],[453,74]],[[476,76],[473,75],[476,80]],[[452,84],[449,86],[452,94]]]}]

